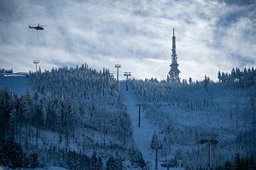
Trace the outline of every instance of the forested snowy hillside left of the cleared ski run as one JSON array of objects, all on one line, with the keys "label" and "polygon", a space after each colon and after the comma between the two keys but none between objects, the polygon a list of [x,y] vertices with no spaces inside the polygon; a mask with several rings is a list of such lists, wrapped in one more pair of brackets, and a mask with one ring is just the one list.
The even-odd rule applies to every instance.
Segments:
[{"label": "forested snowy hillside left of the cleared ski run", "polygon": [[[86,169],[93,159],[101,168],[111,161],[119,167],[125,162],[137,166],[140,153],[131,120],[108,70],[82,65],[30,72],[28,78],[1,77],[1,81],[14,93],[1,90],[4,147],[23,150],[28,161],[38,160],[37,165]],[[4,163],[11,159],[0,154],[2,158]]]}]

